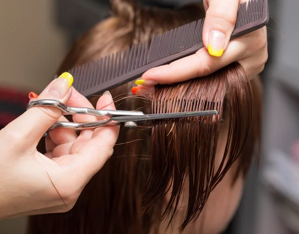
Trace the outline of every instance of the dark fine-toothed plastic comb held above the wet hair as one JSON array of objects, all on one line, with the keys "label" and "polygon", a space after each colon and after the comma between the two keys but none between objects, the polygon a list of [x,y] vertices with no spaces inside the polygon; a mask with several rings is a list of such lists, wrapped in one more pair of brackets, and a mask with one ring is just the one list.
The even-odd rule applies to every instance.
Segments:
[{"label": "dark fine-toothed plastic comb held above the wet hair", "polygon": [[[124,83],[140,78],[153,67],[194,54],[204,47],[203,19],[154,36],[99,60],[75,67],[73,87],[85,97],[102,94]],[[269,22],[268,0],[249,0],[239,5],[231,39],[255,31]],[[57,76],[56,76],[57,77]],[[56,78],[55,77],[55,78]]]}]

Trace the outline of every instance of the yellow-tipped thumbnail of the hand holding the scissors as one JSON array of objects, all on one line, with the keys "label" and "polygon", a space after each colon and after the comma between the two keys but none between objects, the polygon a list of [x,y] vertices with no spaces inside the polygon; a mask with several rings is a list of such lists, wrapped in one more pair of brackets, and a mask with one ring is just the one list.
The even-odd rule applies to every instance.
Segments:
[{"label": "yellow-tipped thumbnail of the hand holding the scissors", "polygon": [[50,87],[49,93],[57,99],[64,98],[73,84],[74,78],[68,72],[62,73]]}]

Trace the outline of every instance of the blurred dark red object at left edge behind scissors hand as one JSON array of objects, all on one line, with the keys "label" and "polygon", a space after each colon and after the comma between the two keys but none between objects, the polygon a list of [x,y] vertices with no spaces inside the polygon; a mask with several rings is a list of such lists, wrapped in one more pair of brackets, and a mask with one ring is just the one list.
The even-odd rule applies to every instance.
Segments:
[{"label": "blurred dark red object at left edge behind scissors hand", "polygon": [[0,87],[0,128],[26,111],[28,92]]}]

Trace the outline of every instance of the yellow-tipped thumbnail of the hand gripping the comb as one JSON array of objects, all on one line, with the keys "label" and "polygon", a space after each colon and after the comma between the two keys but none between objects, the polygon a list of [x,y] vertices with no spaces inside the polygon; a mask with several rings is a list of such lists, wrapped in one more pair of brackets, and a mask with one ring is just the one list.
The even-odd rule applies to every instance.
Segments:
[{"label": "yellow-tipped thumbnail of the hand gripping the comb", "polygon": [[208,51],[209,54],[221,57],[224,51],[226,36],[219,31],[211,31],[209,34]]}]

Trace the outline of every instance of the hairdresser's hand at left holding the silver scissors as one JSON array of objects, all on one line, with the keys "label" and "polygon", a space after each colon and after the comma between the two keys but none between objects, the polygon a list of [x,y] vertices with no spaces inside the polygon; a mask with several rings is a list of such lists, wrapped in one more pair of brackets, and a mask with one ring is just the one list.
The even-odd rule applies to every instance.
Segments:
[{"label": "hairdresser's hand at left holding the silver scissors", "polygon": [[[93,108],[64,73],[37,99],[54,99],[75,107]],[[32,100],[31,100],[32,101]],[[105,108],[103,108],[105,107]],[[108,92],[97,109],[115,109]],[[46,130],[61,117],[54,108],[34,107],[0,131],[0,219],[70,210],[82,189],[113,153],[119,127],[82,130],[52,129],[45,155],[36,150]],[[96,121],[93,116],[73,116],[75,122]]]}]

